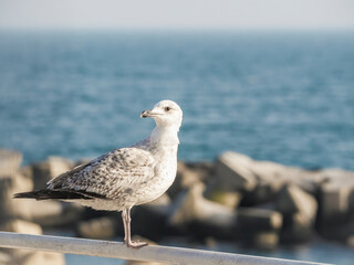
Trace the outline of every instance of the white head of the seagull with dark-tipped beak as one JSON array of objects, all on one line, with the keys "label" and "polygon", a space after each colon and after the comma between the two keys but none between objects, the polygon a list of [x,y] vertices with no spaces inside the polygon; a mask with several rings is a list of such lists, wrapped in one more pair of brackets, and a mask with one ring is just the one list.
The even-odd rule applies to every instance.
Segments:
[{"label": "white head of the seagull with dark-tipped beak", "polygon": [[183,112],[177,103],[173,100],[162,100],[152,109],[144,110],[140,117],[155,119],[157,127],[176,127],[176,129],[179,130]]}]

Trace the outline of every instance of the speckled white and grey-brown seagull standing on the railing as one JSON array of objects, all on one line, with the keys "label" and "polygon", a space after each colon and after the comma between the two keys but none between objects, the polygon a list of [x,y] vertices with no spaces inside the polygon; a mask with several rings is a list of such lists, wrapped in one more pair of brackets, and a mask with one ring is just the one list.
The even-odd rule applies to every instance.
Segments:
[{"label": "speckled white and grey-brown seagull standing on the railing", "polygon": [[95,210],[122,211],[124,243],[139,248],[145,242],[132,241],[131,210],[156,200],[173,184],[177,172],[178,131],[183,112],[171,100],[162,100],[144,110],[156,127],[150,135],[127,148],[118,148],[60,174],[46,189],[14,194],[14,198],[79,202]]}]

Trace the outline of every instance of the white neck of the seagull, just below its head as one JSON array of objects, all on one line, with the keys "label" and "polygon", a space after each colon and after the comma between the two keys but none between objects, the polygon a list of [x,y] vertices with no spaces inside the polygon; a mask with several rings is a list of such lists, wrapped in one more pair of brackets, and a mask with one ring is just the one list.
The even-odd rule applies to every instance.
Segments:
[{"label": "white neck of the seagull, just below its head", "polygon": [[174,126],[169,127],[158,127],[156,126],[150,134],[150,141],[156,146],[177,146],[179,145],[179,139],[177,135],[178,130]]}]

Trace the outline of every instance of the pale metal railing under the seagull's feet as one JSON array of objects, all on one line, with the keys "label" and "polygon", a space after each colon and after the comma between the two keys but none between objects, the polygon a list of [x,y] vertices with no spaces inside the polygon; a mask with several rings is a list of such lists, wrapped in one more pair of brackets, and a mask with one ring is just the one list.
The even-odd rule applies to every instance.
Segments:
[{"label": "pale metal railing under the seagull's feet", "polygon": [[119,242],[72,239],[49,235],[18,234],[11,232],[0,232],[0,247],[27,248],[33,251],[60,252],[67,254],[113,257],[134,261],[162,262],[180,265],[320,264],[169,246],[152,245],[134,250],[126,247],[123,243]]}]

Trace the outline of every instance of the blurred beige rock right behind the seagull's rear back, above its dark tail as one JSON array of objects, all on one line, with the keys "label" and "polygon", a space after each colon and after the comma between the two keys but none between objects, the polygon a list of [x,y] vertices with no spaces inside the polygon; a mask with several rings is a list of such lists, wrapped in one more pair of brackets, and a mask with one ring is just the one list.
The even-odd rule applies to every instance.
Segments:
[{"label": "blurred beige rock right behind the seagull's rear back, above its dark tail", "polygon": [[45,161],[34,163],[32,166],[34,189],[44,189],[48,181],[73,167],[73,161],[61,157],[49,157]]}]

